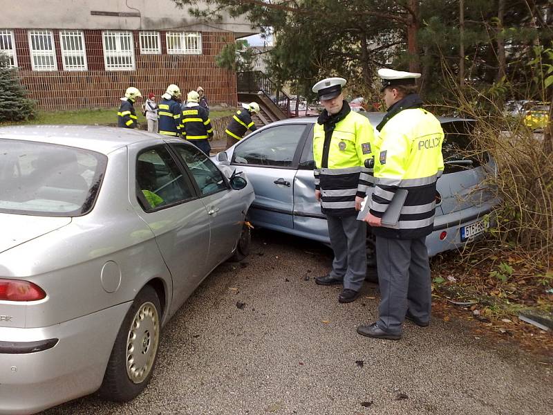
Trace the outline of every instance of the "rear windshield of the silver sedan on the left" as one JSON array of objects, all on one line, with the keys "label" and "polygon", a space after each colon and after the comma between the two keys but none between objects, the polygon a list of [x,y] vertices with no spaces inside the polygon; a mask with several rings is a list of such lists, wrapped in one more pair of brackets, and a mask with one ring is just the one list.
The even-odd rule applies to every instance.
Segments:
[{"label": "rear windshield of the silver sedan on the left", "polygon": [[0,212],[81,216],[95,203],[107,158],[44,142],[0,140]]}]

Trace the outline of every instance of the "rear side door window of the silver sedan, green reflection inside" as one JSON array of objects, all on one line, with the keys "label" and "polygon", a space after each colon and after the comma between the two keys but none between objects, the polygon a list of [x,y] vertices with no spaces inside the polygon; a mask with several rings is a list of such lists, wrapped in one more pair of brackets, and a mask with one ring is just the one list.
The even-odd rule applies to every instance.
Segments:
[{"label": "rear side door window of the silver sedan, green reflection inside", "polygon": [[142,151],[136,161],[138,201],[146,211],[158,210],[194,197],[175,160],[165,147]]}]

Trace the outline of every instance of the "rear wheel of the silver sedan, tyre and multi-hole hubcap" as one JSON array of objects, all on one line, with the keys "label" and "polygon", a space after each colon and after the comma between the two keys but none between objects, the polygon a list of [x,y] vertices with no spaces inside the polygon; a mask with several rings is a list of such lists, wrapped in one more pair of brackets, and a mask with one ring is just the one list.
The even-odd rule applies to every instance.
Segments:
[{"label": "rear wheel of the silver sedan, tyre and multi-hole hubcap", "polygon": [[148,385],[158,357],[160,309],[156,291],[151,286],[142,288],[115,338],[98,391],[102,398],[126,402]]}]

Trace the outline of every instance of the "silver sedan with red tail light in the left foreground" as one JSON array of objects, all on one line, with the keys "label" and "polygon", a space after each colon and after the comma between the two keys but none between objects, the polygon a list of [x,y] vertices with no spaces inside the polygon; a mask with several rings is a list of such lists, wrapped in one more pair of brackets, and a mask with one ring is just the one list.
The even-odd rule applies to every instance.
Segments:
[{"label": "silver sedan with red tail light in the left foreground", "polygon": [[0,414],[151,378],[160,330],[247,255],[252,186],[175,138],[0,128]]}]

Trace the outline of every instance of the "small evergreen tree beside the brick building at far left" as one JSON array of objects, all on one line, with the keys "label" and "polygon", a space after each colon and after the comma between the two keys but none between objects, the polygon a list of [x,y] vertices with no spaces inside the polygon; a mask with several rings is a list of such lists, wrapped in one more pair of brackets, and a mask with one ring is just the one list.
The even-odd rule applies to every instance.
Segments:
[{"label": "small evergreen tree beside the brick building at far left", "polygon": [[17,79],[17,70],[8,66],[8,59],[0,54],[0,122],[14,122],[35,118],[37,104],[27,98],[27,91]]}]

